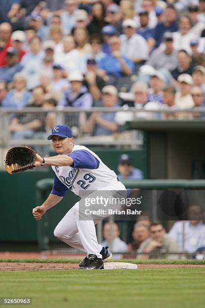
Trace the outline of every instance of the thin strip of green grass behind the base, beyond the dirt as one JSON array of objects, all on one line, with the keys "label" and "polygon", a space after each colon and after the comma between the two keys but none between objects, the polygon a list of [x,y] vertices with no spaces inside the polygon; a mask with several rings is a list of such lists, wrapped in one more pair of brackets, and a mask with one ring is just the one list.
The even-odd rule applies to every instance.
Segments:
[{"label": "thin strip of green grass behind the base, beyond the dirt", "polygon": [[[28,262],[28,263],[79,263],[80,259],[66,259],[66,258],[47,258],[47,259],[0,259],[0,262]],[[205,264],[205,260],[137,260],[137,259],[112,259],[112,262],[129,262],[135,264]],[[1,266],[1,264],[0,264]]]}]

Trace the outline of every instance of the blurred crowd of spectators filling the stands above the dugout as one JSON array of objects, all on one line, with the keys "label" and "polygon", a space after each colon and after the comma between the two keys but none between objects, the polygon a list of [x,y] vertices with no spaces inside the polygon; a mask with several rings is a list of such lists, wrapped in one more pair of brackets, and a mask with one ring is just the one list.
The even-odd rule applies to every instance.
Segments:
[{"label": "blurred crowd of spectators filling the stands above the dugout", "polygon": [[90,135],[133,119],[126,107],[202,117],[165,111],[205,104],[204,34],[204,0],[2,0],[0,107],[46,109],[13,114],[12,137],[45,132],[62,107],[125,105],[80,117]]}]

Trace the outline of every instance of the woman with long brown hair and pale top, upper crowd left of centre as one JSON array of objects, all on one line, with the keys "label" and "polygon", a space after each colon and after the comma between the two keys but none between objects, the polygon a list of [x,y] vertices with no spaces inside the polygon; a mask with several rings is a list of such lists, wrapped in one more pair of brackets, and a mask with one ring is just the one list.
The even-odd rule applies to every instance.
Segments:
[{"label": "woman with long brown hair and pale top, upper crowd left of centre", "polygon": [[89,34],[86,28],[76,28],[73,32],[73,37],[76,44],[76,49],[81,55],[88,55],[91,52],[91,46],[89,42]]}]

